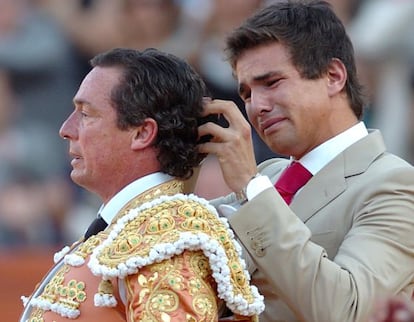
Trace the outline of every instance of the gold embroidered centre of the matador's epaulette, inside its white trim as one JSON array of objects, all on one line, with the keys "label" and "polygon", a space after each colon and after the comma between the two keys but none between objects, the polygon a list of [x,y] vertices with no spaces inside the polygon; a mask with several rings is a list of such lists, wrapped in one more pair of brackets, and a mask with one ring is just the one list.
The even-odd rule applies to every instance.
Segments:
[{"label": "gold embroidered centre of the matador's epaulette, inside its white trim", "polygon": [[[229,260],[234,294],[242,295],[248,303],[252,303],[254,296],[232,237],[216,215],[193,199],[166,200],[143,209],[125,223],[124,229],[98,254],[97,259],[101,265],[116,269],[130,258],[149,256],[155,245],[177,242],[183,232],[202,232],[222,245]],[[204,274],[210,274],[205,257],[195,263],[200,265],[197,269],[204,269]]]}]

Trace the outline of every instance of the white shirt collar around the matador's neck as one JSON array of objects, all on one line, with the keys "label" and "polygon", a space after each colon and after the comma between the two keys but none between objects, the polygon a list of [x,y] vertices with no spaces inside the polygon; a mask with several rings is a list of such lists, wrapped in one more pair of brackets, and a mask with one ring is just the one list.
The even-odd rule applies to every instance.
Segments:
[{"label": "white shirt collar around the matador's neck", "polygon": [[122,207],[124,207],[125,204],[132,200],[135,196],[161,183],[167,182],[172,178],[173,177],[170,175],[162,172],[152,173],[145,177],[139,178],[131,182],[115,196],[113,196],[107,204],[102,205],[99,209],[99,214],[108,224],[110,224]]}]

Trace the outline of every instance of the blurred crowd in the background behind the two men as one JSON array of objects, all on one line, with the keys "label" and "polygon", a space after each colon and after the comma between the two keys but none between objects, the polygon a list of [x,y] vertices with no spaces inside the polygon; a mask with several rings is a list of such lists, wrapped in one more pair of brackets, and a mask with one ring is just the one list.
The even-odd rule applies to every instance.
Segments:
[{"label": "blurred crowd in the background behind the two men", "polygon": [[[58,135],[90,58],[113,47],[156,47],[188,60],[212,97],[242,108],[224,39],[267,2],[0,0],[0,247],[61,245],[96,215],[99,201],[71,182]],[[370,102],[365,121],[413,162],[414,1],[330,2],[354,41]],[[253,138],[257,162],[272,156]],[[214,159],[201,178],[204,196],[226,192]]]}]

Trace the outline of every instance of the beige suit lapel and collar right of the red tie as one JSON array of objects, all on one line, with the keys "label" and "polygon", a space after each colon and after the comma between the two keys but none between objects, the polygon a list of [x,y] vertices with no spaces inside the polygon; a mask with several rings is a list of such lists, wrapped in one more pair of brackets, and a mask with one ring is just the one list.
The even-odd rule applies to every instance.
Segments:
[{"label": "beige suit lapel and collar right of the red tie", "polygon": [[382,153],[385,145],[379,131],[351,145],[321,169],[303,187],[290,207],[303,221],[308,221],[329,202],[347,189],[347,178],[366,171]]}]

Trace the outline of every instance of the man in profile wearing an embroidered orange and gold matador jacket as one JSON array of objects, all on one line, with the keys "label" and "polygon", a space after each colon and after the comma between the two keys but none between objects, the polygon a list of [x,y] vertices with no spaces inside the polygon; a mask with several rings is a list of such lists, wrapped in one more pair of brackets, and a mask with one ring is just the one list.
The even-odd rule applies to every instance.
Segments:
[{"label": "man in profile wearing an embroidered orange and gold matador jacket", "polygon": [[215,321],[222,304],[256,320],[263,299],[227,223],[183,194],[203,158],[200,77],[155,49],[114,49],[91,63],[60,135],[72,180],[103,206],[24,299],[20,321]]}]

